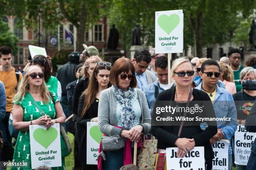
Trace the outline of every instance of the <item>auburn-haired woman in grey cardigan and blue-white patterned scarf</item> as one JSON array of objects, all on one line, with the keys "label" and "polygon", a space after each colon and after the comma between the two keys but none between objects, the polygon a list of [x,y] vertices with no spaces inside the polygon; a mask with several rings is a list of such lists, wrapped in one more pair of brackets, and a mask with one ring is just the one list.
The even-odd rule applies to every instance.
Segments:
[{"label": "auburn-haired woman in grey cardigan and blue-white patterned scarf", "polygon": [[130,59],[119,58],[115,61],[110,71],[110,83],[112,86],[100,94],[98,125],[100,131],[107,136],[126,138],[125,147],[116,151],[103,150],[106,155],[104,170],[119,170],[125,165],[124,162],[132,163],[131,142],[140,141],[141,133],[147,134],[150,131],[151,116],[145,94],[136,89],[135,68]]}]

